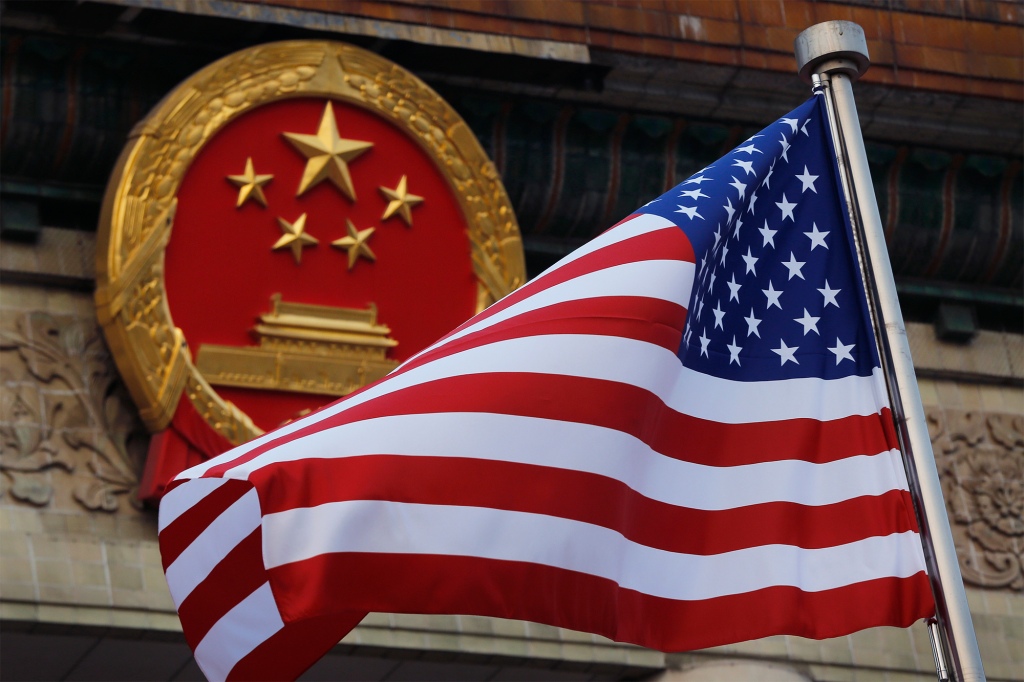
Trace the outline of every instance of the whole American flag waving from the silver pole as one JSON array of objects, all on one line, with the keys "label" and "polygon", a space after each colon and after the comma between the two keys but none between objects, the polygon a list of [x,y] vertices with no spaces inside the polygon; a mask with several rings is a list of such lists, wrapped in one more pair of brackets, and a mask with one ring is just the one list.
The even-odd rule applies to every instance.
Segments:
[{"label": "whole American flag waving from the silver pole", "polygon": [[820,97],[384,380],[177,477],[211,679],[368,611],[663,650],[934,611]]}]

